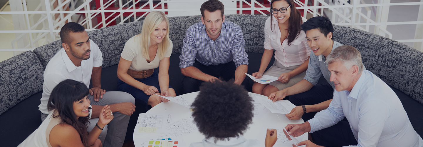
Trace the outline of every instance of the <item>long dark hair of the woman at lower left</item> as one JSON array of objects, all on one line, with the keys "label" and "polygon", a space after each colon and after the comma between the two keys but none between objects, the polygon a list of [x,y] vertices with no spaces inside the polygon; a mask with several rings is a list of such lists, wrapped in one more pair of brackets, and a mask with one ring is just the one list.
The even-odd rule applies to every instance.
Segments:
[{"label": "long dark hair of the woman at lower left", "polygon": [[77,130],[84,147],[88,147],[87,128],[90,122],[88,121],[88,116],[77,119],[73,104],[76,101],[82,100],[88,94],[88,88],[84,83],[70,79],[63,80],[52,90],[49,102],[47,103],[49,111],[54,110],[52,113],[58,113],[58,115],[53,115],[54,118],[60,116],[62,122],[71,125]]}]

